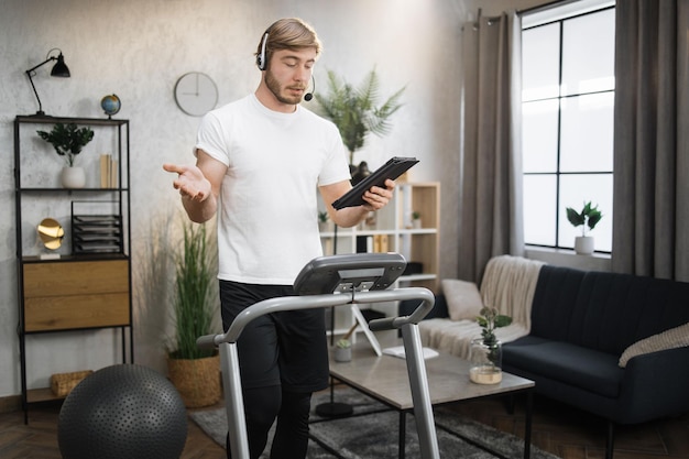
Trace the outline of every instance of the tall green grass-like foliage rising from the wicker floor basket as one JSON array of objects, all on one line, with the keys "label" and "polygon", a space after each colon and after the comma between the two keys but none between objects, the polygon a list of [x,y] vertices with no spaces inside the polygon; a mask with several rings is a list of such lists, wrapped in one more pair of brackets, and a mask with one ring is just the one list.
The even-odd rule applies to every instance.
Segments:
[{"label": "tall green grass-like foliage rising from the wicker floor basket", "polygon": [[201,359],[215,350],[199,349],[196,339],[214,332],[211,298],[215,263],[205,225],[185,222],[182,248],[175,253],[174,346],[172,359]]}]

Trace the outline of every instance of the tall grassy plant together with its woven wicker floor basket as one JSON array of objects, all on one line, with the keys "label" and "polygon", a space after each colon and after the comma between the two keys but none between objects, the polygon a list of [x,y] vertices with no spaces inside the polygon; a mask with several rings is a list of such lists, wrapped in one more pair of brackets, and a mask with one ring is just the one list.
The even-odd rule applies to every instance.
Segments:
[{"label": "tall grassy plant together with its woven wicker floor basket", "polygon": [[175,253],[174,338],[167,353],[169,380],[187,407],[220,400],[220,361],[215,350],[199,349],[198,337],[217,332],[214,299],[215,255],[205,225],[186,222]]}]

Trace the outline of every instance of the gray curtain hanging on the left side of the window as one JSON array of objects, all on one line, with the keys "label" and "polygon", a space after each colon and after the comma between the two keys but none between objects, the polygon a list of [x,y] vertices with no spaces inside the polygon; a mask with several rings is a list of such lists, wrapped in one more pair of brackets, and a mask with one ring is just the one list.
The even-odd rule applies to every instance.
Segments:
[{"label": "gray curtain hanging on the left side of the window", "polygon": [[462,28],[463,145],[459,277],[479,282],[492,256],[524,250],[521,19]]}]

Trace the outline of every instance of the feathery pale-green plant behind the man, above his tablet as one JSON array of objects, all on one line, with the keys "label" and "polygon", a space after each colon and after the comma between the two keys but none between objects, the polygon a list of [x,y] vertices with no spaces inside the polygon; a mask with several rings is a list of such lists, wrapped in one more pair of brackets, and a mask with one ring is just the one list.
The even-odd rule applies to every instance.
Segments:
[{"label": "feathery pale-green plant behind the man, above his tablet", "polygon": [[361,149],[369,133],[384,135],[390,132],[390,117],[402,105],[400,98],[405,87],[390,96],[378,106],[380,81],[372,69],[358,87],[342,81],[332,70],[328,70],[328,91],[316,92],[320,114],[331,120],[340,131],[342,141],[349,150],[350,170],[354,166],[354,152]]}]

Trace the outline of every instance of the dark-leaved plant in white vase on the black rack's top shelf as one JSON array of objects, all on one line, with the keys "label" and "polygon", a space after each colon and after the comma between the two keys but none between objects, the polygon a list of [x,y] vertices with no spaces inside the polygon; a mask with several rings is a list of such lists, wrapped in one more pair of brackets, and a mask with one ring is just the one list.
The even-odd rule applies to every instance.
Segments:
[{"label": "dark-leaved plant in white vase on the black rack's top shelf", "polygon": [[62,171],[62,184],[65,188],[84,188],[86,175],[81,167],[75,167],[76,155],[81,153],[91,140],[94,131],[88,128],[78,128],[75,123],[57,123],[51,132],[36,131],[41,139],[53,145],[59,156],[65,156],[67,166]]}]

